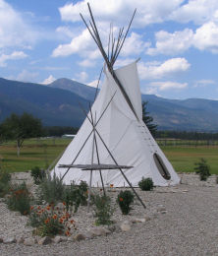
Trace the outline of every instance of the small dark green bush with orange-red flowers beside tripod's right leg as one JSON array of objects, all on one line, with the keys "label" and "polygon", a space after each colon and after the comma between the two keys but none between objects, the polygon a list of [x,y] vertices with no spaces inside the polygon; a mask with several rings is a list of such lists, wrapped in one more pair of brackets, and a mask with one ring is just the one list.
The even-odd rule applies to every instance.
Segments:
[{"label": "small dark green bush with orange-red flowers beside tripod's right leg", "polygon": [[123,215],[128,215],[131,211],[131,204],[134,203],[134,194],[129,190],[121,191],[117,197]]}]

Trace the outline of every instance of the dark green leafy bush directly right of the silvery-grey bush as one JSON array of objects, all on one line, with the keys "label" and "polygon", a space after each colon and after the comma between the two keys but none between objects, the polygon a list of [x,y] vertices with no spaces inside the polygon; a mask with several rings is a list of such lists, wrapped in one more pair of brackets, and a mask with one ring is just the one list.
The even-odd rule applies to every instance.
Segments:
[{"label": "dark green leafy bush directly right of the silvery-grey bush", "polygon": [[71,208],[71,211],[73,210],[76,213],[80,205],[87,204],[87,183],[81,181],[79,186],[72,183],[65,190],[64,201],[66,202],[67,211]]}]

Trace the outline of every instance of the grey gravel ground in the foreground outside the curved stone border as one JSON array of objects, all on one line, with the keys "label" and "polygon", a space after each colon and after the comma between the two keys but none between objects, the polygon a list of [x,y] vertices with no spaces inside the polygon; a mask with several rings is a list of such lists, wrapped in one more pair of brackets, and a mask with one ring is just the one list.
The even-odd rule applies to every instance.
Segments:
[{"label": "grey gravel ground in the foreground outside the curved stone border", "polygon": [[[132,218],[153,212],[158,205],[163,205],[167,213],[134,224],[128,232],[44,246],[0,243],[0,255],[218,255],[218,185],[211,183],[215,177],[208,183],[194,183],[195,175],[183,176],[185,183],[191,180],[191,184],[139,191],[147,210],[136,204]],[[2,211],[0,208],[1,232]],[[116,218],[120,219],[118,214]]]}]

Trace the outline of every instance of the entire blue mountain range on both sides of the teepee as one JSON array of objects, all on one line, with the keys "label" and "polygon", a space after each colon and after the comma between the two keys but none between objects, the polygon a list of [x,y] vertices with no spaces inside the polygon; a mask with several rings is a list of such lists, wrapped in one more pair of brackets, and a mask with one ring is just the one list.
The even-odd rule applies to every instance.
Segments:
[{"label": "entire blue mountain range on both sides of the teepee", "polygon": [[[12,112],[27,111],[44,125],[79,127],[95,89],[76,81],[58,79],[42,86],[0,79],[0,122]],[[168,99],[142,95],[147,111],[162,130],[218,131],[218,100],[203,98]]]}]

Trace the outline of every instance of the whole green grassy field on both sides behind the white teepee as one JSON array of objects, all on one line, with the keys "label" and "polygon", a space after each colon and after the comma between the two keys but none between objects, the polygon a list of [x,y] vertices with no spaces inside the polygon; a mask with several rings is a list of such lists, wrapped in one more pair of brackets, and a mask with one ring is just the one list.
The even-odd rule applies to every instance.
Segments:
[{"label": "whole green grassy field on both sides behind the white teepee", "polygon": [[[60,156],[71,139],[27,140],[17,157],[15,142],[0,145],[0,163],[10,172],[29,170],[31,167],[46,167]],[[207,160],[211,173],[218,174],[218,146],[161,146],[177,171],[191,172],[194,162]]]}]

